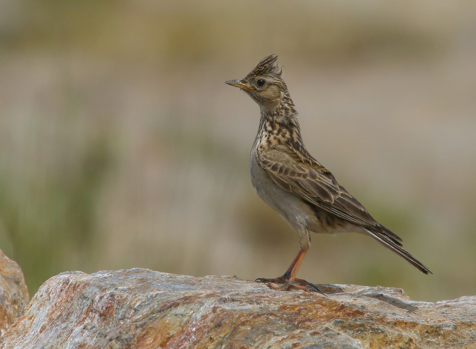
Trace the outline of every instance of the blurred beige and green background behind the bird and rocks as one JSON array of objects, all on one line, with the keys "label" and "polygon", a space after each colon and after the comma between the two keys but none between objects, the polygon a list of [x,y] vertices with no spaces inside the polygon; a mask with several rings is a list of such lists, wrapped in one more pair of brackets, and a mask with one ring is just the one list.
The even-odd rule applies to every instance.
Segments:
[{"label": "blurred beige and green background behind the bird and rocks", "polygon": [[0,1],[0,248],[33,295],[62,271],[282,275],[297,235],[248,175],[278,64],[309,152],[434,275],[358,234],[298,276],[476,294],[476,4]]}]

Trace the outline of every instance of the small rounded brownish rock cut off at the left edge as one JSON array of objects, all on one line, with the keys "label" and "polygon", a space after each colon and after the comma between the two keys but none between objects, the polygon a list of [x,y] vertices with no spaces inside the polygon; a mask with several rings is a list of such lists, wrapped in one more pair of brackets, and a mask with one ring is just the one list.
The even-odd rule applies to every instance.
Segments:
[{"label": "small rounded brownish rock cut off at the left edge", "polygon": [[29,299],[20,267],[0,250],[0,338]]}]

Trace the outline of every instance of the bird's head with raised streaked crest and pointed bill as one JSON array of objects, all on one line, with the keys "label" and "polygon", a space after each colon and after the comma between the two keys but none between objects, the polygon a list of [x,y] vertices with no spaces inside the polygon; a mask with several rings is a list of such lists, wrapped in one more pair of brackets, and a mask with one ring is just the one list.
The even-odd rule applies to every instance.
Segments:
[{"label": "bird's head with raised streaked crest and pointed bill", "polygon": [[245,78],[225,83],[241,88],[260,107],[273,109],[288,95],[288,87],[281,78],[281,67],[276,64],[277,59],[277,55],[263,58]]}]

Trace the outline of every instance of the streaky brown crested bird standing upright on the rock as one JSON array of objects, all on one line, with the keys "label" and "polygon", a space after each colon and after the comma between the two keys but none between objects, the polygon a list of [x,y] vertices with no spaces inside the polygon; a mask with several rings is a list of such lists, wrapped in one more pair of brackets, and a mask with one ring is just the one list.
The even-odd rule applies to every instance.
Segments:
[{"label": "streaky brown crested bird standing upright on the rock", "polygon": [[334,175],[304,146],[296,107],[282,78],[277,55],[263,58],[242,79],[225,83],[240,88],[259,105],[260,121],[250,154],[251,182],[258,196],[299,237],[300,250],[288,270],[273,279],[258,278],[281,291],[321,292],[296,274],[311,244],[311,233],[355,232],[368,235],[419,271],[432,273],[402,246],[402,239],[378,223],[339,185]]}]

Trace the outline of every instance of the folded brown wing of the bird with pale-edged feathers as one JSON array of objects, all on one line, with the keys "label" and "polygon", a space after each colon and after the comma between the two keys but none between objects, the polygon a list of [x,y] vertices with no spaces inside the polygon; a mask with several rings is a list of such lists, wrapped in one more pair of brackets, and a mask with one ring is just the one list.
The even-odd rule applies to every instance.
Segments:
[{"label": "folded brown wing of the bird with pale-edged feathers", "polygon": [[349,222],[383,233],[401,245],[400,237],[372,218],[327,168],[310,155],[302,158],[293,148],[279,146],[262,152],[259,158],[263,169],[281,188]]}]

